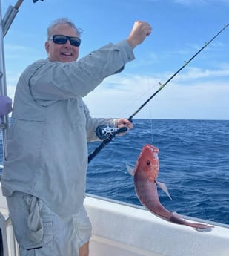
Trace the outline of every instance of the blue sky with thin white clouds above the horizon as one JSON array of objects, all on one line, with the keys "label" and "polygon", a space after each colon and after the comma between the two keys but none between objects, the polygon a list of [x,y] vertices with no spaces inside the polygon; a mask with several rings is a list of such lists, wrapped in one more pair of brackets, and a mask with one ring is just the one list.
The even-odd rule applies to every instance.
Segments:
[{"label": "blue sky with thin white clouds above the horizon", "polygon": [[[1,13],[16,1],[1,1]],[[7,92],[23,70],[46,59],[47,26],[60,17],[83,30],[80,56],[127,39],[136,20],[153,32],[125,70],[84,97],[93,117],[131,116],[206,42],[229,23],[229,0],[24,0],[4,37]],[[179,72],[134,118],[229,119],[229,27]]]}]

